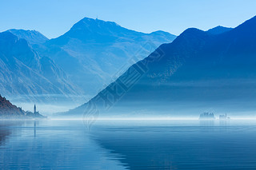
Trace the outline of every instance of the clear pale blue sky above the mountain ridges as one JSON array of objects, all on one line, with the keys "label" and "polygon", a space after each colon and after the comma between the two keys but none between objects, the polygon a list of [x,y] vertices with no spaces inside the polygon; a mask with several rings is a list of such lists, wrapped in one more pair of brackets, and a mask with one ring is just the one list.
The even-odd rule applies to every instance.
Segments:
[{"label": "clear pale blue sky above the mountain ridges", "polygon": [[131,30],[181,34],[189,27],[235,27],[256,15],[255,0],[0,0],[0,31],[38,30],[56,38],[84,17]]}]

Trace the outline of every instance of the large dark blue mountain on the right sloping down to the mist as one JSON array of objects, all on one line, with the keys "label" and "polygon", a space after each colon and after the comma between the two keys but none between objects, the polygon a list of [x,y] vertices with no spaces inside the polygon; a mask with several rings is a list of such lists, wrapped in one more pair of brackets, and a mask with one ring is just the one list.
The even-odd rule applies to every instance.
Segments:
[{"label": "large dark blue mountain on the right sloping down to the mist", "polygon": [[256,17],[222,34],[185,30],[66,117],[255,117]]}]

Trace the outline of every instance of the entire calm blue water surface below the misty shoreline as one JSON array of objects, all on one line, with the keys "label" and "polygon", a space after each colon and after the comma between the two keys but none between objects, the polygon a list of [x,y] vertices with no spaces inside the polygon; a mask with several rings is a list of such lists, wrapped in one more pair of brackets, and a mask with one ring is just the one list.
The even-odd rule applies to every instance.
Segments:
[{"label": "entire calm blue water surface below the misty shoreline", "polygon": [[0,169],[256,169],[256,121],[0,121]]}]

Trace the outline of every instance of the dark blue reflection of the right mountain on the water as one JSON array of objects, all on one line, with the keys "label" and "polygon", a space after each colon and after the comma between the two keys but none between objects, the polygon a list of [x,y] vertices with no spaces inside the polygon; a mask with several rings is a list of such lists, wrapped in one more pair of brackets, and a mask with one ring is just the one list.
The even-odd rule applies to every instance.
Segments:
[{"label": "dark blue reflection of the right mountain on the water", "polygon": [[94,128],[94,140],[118,155],[130,169],[256,167],[254,125],[245,125],[250,127],[246,131],[240,129],[244,125],[227,126],[227,122],[218,121],[200,121],[193,126],[172,122],[166,126],[123,125],[98,125]]}]

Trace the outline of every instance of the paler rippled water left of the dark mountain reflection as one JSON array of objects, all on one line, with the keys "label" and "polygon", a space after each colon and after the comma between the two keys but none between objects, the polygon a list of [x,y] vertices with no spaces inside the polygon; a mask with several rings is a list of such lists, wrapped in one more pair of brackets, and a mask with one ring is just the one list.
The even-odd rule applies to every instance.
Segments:
[{"label": "paler rippled water left of the dark mountain reflection", "polygon": [[0,121],[0,169],[125,169],[90,140],[82,121]]}]

